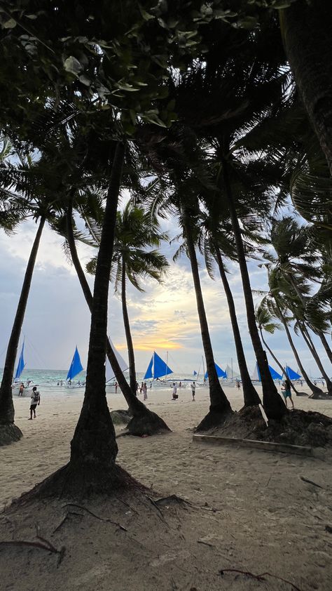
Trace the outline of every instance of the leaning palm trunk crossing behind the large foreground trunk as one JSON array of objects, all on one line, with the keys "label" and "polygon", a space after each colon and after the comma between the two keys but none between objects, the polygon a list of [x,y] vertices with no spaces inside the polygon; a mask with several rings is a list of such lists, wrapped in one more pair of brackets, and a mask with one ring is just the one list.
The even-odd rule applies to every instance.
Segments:
[{"label": "leaning palm trunk crossing behind the large foreground trunk", "polygon": [[[75,267],[78,280],[80,281],[81,288],[85,297],[85,301],[88,304],[90,312],[92,312],[92,293],[90,291],[90,286],[88,281],[86,280],[85,274],[81,267],[80,260],[78,258],[74,232],[73,232],[73,225],[72,225],[72,208],[69,205],[67,210],[67,240],[69,244],[69,250],[71,253],[71,260],[73,261],[73,265]],[[125,401],[129,407],[130,415],[132,415],[132,420],[127,425],[127,429],[130,433],[135,435],[144,435],[144,434],[153,434],[156,432],[161,431],[169,431],[166,423],[156,414],[146,408],[146,406],[137,399],[134,391],[130,388],[130,385],[127,383],[125,376],[123,376],[123,371],[120,368],[118,363],[118,359],[116,359],[116,354],[114,353],[111,343],[109,342],[109,338],[106,338],[106,355],[109,359],[111,364],[111,368],[113,369],[114,375],[116,376],[116,380],[120,387],[123,396],[125,397]]]}]

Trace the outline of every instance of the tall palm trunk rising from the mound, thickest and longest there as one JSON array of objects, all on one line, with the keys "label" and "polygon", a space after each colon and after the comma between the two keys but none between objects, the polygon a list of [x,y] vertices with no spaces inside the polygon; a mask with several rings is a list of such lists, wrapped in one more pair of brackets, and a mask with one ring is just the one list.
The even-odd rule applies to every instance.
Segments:
[{"label": "tall palm trunk rising from the mound, thickest and longest there", "polygon": [[224,159],[223,157],[221,157],[221,161],[223,165],[223,182],[226,190],[226,197],[228,200],[228,207],[230,211],[230,219],[232,222],[235,237],[235,244],[237,247],[238,263],[240,265],[244,302],[247,311],[248,328],[251,336],[251,343],[254,347],[254,352],[256,354],[258,368],[261,373],[263,389],[263,406],[268,418],[274,418],[279,420],[286,413],[286,407],[277,391],[277,388],[275,387],[275,383],[272,380],[272,376],[268,368],[268,359],[266,357],[265,351],[263,350],[261,339],[259,338],[240,224],[239,220],[237,219],[237,212],[233,201],[233,194],[230,188],[230,181],[228,177],[228,164],[226,162],[226,159]]}]

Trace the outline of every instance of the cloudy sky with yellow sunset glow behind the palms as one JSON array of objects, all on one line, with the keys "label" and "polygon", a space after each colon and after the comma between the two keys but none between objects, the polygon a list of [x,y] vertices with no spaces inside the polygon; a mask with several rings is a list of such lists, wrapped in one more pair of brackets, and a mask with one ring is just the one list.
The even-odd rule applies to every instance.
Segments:
[{"label": "cloudy sky with yellow sunset glow behind the palms", "polygon": [[[171,222],[168,227],[162,227],[164,229],[168,230],[170,238],[178,233],[176,225]],[[18,232],[10,237],[0,230],[0,367],[4,366],[8,338],[35,235],[36,223],[32,220],[22,223]],[[66,370],[76,345],[83,368],[86,368],[90,313],[74,267],[67,260],[62,244],[62,239],[45,227],[22,327],[27,368]],[[176,243],[164,243],[162,253],[171,260],[176,249]],[[83,266],[95,255],[92,248],[83,245],[78,246],[78,253]],[[252,373],[256,359],[247,328],[240,272],[235,264],[228,265],[228,268],[231,270],[230,287],[235,298],[247,365],[249,373]],[[258,268],[258,263],[249,263],[249,274],[253,289],[267,288],[265,271]],[[221,280],[212,281],[208,277],[202,260],[200,279],[215,361],[221,368],[232,363],[235,367],[235,345]],[[92,288],[93,278],[88,277],[88,281]],[[192,375],[193,371],[202,371],[202,339],[188,259],[183,257],[177,263],[171,262],[163,284],[149,279],[144,289],[144,293],[139,293],[131,285],[127,288],[137,371],[146,371],[153,350],[165,360],[168,355],[168,364],[176,373]],[[256,302],[259,299],[256,296]],[[114,295],[112,285],[109,291],[108,333],[120,354],[127,359],[120,299]],[[284,331],[277,331],[273,336],[265,335],[265,338],[282,364],[289,364],[296,370],[297,364]],[[319,377],[319,370],[302,339],[294,336],[294,340],[307,371],[312,378]],[[314,342],[330,375],[331,364],[326,353],[316,337]],[[277,369],[270,358],[269,363]]]}]

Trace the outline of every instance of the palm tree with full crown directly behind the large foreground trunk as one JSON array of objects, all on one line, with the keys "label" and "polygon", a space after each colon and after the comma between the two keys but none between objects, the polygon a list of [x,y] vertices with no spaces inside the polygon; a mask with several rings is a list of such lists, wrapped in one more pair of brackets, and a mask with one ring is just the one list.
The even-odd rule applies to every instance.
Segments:
[{"label": "palm tree with full crown directly behind the large foreground trunk", "polygon": [[[97,234],[98,230],[94,227],[95,237]],[[127,310],[126,279],[138,291],[144,291],[141,287],[141,277],[151,277],[156,281],[162,281],[162,275],[165,274],[168,263],[165,256],[158,253],[155,248],[158,248],[160,241],[165,239],[167,239],[167,234],[160,234],[158,220],[144,211],[144,208],[134,206],[132,201],[128,201],[123,211],[118,211],[111,275],[115,278],[115,291],[120,291],[121,294],[132,392],[136,392],[137,380],[134,346]],[[151,246],[154,247],[154,250],[146,251],[146,247]],[[93,274],[95,259],[92,259],[86,268],[88,272]]]}]

